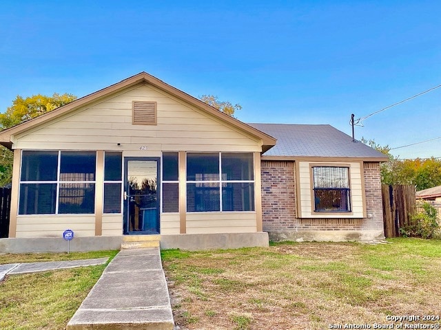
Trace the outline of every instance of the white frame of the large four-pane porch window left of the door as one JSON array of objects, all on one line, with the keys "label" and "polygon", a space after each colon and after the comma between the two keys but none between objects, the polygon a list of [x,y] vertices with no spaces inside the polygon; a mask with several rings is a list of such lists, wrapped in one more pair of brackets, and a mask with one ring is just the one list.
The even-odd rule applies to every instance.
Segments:
[{"label": "white frame of the large four-pane porch window left of the door", "polygon": [[[94,216],[94,214],[96,214],[96,203],[95,203],[95,198],[96,198],[96,174],[97,174],[97,162],[98,162],[98,157],[97,157],[97,153],[96,151],[90,151],[90,150],[48,150],[48,149],[28,149],[28,150],[21,150],[20,153],[20,159],[23,159],[23,152],[25,151],[41,151],[41,152],[54,152],[57,151],[58,156],[57,156],[57,179],[56,180],[36,180],[36,181],[29,181],[29,180],[21,180],[21,170],[22,170],[22,166],[23,166],[23,162],[21,160],[21,164],[20,164],[20,176],[19,176],[19,192],[18,192],[18,196],[20,197],[21,195],[21,185],[22,184],[56,184],[57,185],[57,190],[56,190],[56,197],[55,197],[55,212],[54,213],[45,213],[45,214],[36,214],[36,213],[31,213],[31,214],[20,214],[20,206],[22,201],[19,198],[19,203],[18,203],[18,207],[17,207],[17,217],[50,217],[50,216]],[[60,180],[60,174],[61,174],[61,153],[62,152],[90,152],[90,153],[95,153],[95,174],[94,174],[94,180],[90,180],[90,181],[85,181],[85,180],[81,180],[81,181],[66,181],[66,180]],[[61,184],[93,184],[94,185],[94,212],[93,213],[59,213],[59,199],[60,199],[60,185]],[[104,195],[104,194],[103,194]]]}]

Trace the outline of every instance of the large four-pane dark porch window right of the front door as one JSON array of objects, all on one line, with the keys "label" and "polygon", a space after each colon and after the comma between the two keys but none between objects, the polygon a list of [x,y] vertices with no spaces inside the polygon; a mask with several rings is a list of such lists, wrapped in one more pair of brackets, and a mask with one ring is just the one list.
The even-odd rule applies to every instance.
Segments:
[{"label": "large four-pane dark porch window right of the front door", "polygon": [[187,153],[187,212],[254,211],[252,153]]}]

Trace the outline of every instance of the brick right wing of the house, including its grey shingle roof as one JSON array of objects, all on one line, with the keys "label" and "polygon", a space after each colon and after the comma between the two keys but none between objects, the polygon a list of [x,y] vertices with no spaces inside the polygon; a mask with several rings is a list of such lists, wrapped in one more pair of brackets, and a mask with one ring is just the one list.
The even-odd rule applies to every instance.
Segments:
[{"label": "brick right wing of the house, including its grey shingle roof", "polygon": [[250,125],[277,139],[260,158],[263,230],[271,240],[384,237],[385,155],[330,125]]}]

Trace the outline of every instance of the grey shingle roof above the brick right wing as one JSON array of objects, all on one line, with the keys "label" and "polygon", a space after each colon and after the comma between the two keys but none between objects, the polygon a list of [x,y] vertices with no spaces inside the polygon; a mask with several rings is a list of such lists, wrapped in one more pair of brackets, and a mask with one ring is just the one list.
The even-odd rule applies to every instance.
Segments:
[{"label": "grey shingle roof above the brick right wing", "polygon": [[331,125],[249,124],[276,137],[277,144],[263,155],[273,157],[354,157],[385,162],[387,155],[338,131]]}]

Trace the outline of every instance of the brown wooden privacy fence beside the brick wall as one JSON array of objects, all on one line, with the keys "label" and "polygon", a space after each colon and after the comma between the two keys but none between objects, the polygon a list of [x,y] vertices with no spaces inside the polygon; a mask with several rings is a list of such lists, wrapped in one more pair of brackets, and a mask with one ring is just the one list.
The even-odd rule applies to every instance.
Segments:
[{"label": "brown wooden privacy fence beside the brick wall", "polygon": [[400,228],[409,224],[416,213],[415,186],[381,186],[383,201],[384,236],[400,236]]}]

